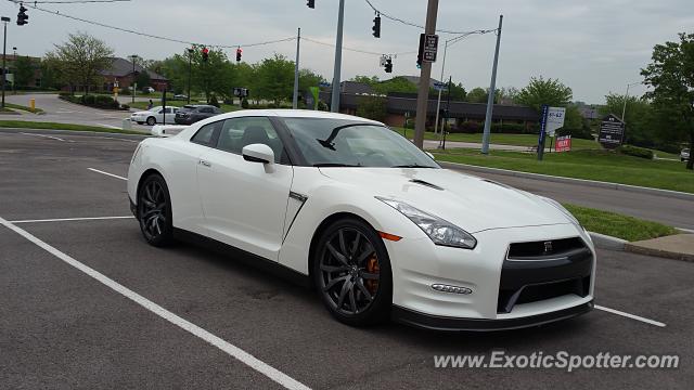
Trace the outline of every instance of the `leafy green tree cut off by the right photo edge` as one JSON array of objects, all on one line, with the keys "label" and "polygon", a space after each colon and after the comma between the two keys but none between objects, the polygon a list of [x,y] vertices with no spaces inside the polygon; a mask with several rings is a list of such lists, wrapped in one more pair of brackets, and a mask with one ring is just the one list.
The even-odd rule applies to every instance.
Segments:
[{"label": "leafy green tree cut off by the right photo edge", "polygon": [[[653,102],[661,131],[674,141],[689,139],[694,151],[694,34],[682,32],[679,38],[679,42],[656,44],[641,75],[652,88],[645,96]],[[693,168],[694,158],[690,158],[686,169]]]}]

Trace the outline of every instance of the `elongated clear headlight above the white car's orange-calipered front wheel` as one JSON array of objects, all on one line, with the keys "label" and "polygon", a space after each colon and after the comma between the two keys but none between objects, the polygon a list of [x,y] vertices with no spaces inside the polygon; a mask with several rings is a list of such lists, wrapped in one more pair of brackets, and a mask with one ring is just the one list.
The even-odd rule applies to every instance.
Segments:
[{"label": "elongated clear headlight above the white car's orange-calipered front wheel", "polygon": [[426,213],[399,200],[382,198],[378,196],[376,196],[376,199],[400,211],[400,213],[414,222],[415,225],[426,233],[426,235],[429,236],[432,242],[436,245],[464,249],[473,249],[475,248],[475,245],[477,245],[475,237],[448,221]]}]

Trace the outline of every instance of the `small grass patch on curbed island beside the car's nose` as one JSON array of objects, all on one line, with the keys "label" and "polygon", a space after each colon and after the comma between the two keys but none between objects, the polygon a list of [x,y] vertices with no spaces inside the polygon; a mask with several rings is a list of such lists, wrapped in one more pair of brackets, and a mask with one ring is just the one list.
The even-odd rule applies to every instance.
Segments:
[{"label": "small grass patch on curbed island beside the car's nose", "polygon": [[679,233],[674,227],[616,212],[567,204],[564,204],[564,207],[566,207],[588,231],[619,237],[629,242],[657,238]]}]

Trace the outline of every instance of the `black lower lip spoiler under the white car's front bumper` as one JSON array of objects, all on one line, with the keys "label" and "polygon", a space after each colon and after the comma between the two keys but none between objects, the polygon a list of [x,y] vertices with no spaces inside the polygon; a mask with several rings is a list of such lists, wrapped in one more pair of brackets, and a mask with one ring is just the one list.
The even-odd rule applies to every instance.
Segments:
[{"label": "black lower lip spoiler under the white car's front bumper", "polygon": [[593,301],[590,300],[579,306],[557,310],[544,314],[536,314],[525,317],[505,320],[480,320],[480,318],[455,318],[440,315],[420,313],[413,310],[394,307],[391,318],[399,323],[430,330],[467,330],[467,332],[491,332],[511,330],[524,327],[539,326],[556,321],[568,320],[593,309]]}]

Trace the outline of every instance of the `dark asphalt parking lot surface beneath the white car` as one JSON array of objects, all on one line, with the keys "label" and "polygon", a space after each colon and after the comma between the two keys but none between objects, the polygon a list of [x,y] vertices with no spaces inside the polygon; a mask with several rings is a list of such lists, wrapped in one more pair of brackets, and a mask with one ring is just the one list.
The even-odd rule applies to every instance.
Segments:
[{"label": "dark asphalt parking lot surface beneath the white car", "polygon": [[[24,132],[24,133],[23,133]],[[0,132],[0,388],[691,388],[694,264],[599,251],[605,310],[542,327],[356,329],[233,258],[147,246],[137,138]],[[110,173],[110,174],[105,174]],[[631,317],[638,316],[638,317]],[[665,326],[661,326],[665,325]],[[677,354],[679,368],[435,368],[435,355]]]}]

